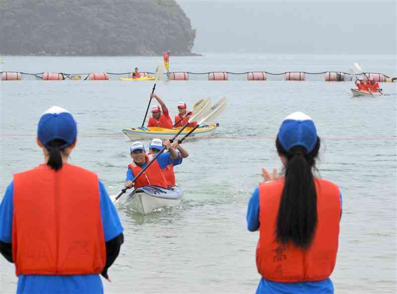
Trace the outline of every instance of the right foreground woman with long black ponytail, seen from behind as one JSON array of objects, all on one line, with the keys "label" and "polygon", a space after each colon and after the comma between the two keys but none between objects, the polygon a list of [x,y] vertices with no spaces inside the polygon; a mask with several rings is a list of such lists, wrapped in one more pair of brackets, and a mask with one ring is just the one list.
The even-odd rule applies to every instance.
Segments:
[{"label": "right foreground woman with long black ponytail, seen from behind", "polygon": [[338,186],[313,175],[320,138],[312,119],[287,116],[276,148],[285,176],[263,169],[247,212],[248,230],[259,229],[257,294],[331,294],[342,199]]}]

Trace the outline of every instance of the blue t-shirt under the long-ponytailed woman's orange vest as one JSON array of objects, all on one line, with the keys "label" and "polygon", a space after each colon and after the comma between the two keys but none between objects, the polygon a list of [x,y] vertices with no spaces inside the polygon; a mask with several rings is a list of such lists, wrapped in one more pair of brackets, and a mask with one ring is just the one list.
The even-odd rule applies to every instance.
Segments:
[{"label": "blue t-shirt under the long-ponytailed woman's orange vest", "polygon": [[[342,194],[339,194],[340,207],[342,207]],[[342,215],[340,215],[342,216]],[[248,231],[255,232],[259,229],[259,188],[254,190],[247,210]],[[261,278],[256,294],[333,294],[333,284],[328,278],[318,282],[303,283],[278,283]]]}]

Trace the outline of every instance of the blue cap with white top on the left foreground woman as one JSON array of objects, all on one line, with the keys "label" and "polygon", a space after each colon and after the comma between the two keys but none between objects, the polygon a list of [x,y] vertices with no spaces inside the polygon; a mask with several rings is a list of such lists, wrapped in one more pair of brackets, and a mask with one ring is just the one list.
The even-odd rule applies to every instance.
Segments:
[{"label": "blue cap with white top on the left foreground woman", "polygon": [[40,117],[37,126],[37,137],[44,147],[52,140],[64,140],[66,144],[59,147],[60,150],[73,144],[77,137],[77,124],[73,116],[66,109],[52,106]]}]

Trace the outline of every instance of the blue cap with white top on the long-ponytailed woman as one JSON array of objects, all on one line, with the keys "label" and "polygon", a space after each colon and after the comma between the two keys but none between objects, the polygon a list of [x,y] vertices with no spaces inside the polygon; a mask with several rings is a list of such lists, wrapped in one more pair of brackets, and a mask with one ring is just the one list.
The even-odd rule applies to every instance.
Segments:
[{"label": "blue cap with white top on the long-ponytailed woman", "polygon": [[316,126],[308,115],[294,112],[281,123],[277,138],[286,151],[294,146],[303,146],[309,153],[317,142]]}]

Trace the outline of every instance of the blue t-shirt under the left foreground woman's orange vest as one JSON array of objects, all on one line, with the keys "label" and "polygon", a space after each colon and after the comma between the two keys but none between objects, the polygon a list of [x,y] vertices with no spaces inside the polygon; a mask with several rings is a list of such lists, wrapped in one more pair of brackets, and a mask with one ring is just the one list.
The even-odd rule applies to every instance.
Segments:
[{"label": "blue t-shirt under the left foreground woman's orange vest", "polygon": [[[112,240],[123,232],[119,216],[105,187],[98,181],[100,206],[105,242]],[[11,243],[13,215],[13,182],[8,185],[0,204],[0,241]],[[19,275],[17,294],[68,294],[68,293],[103,293],[99,275]]]}]

